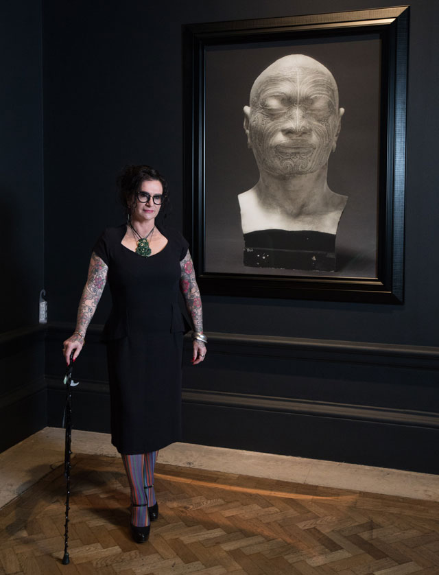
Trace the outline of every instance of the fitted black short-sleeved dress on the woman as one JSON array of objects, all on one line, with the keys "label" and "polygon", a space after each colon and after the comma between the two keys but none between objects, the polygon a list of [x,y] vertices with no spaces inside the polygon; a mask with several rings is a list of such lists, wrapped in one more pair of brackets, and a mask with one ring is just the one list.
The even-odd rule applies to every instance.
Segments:
[{"label": "fitted black short-sleeved dress on the woman", "polygon": [[188,244],[176,231],[143,257],[121,244],[126,225],[106,228],[93,251],[108,266],[112,310],[107,346],[111,441],[121,454],[156,451],[181,438],[180,261]]}]

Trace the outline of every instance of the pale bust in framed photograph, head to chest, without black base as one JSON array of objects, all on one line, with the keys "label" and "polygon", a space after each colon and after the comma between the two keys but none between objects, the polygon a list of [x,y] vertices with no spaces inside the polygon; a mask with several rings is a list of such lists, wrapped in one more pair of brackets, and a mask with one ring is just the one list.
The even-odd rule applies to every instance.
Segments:
[{"label": "pale bust in framed photograph, head to chest, without black base", "polygon": [[239,194],[246,240],[263,230],[335,237],[347,198],[329,189],[327,172],[343,115],[333,75],[309,56],[279,58],[254,80],[244,130],[259,181]]}]

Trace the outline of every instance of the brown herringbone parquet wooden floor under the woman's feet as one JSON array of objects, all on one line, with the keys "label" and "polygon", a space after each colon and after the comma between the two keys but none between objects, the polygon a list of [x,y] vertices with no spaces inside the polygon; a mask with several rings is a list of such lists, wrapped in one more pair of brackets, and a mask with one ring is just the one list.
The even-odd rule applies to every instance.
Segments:
[{"label": "brown herringbone parquet wooden floor under the woman's feet", "polygon": [[70,564],[55,469],[0,511],[0,575],[439,575],[439,504],[156,467],[150,541],[128,530],[119,458],[73,458]]}]

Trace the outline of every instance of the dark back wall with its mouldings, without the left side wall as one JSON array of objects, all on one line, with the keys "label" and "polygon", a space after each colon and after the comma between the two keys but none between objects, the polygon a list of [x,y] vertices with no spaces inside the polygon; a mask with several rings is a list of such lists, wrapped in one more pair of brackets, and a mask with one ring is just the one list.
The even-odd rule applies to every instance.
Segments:
[{"label": "dark back wall with its mouldings, without the left side wall", "polygon": [[[380,4],[44,1],[46,286],[50,319],[58,322],[47,355],[51,423],[61,397],[60,342],[74,321],[95,238],[121,221],[114,178],[124,163],[147,162],[166,174],[171,221],[182,228],[181,25]],[[204,366],[185,366],[187,441],[437,470],[429,449],[439,425],[438,16],[431,0],[412,5],[404,305],[205,296],[206,331],[219,335]],[[97,324],[108,304],[106,297]],[[252,335],[263,337],[256,345]],[[104,430],[106,408],[96,398],[107,401],[106,373],[95,366],[103,357],[93,337],[78,366],[88,378],[78,397],[96,405],[80,425]],[[303,338],[315,341],[304,348]],[[346,342],[357,346],[355,357]]]}]

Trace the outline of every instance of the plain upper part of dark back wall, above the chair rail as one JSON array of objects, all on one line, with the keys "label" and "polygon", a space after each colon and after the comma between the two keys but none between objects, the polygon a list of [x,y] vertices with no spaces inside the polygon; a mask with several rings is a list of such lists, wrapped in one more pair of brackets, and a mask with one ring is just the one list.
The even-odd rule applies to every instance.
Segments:
[{"label": "plain upper part of dark back wall, above the chair rail", "polygon": [[[89,248],[101,228],[120,220],[113,182],[123,163],[147,161],[163,170],[171,184],[174,222],[181,226],[182,23],[379,5],[370,0],[215,5],[201,0],[45,1],[46,261],[58,263],[47,270],[51,317],[72,320]],[[209,330],[436,345],[431,317],[438,310],[439,270],[431,261],[431,246],[439,203],[437,141],[431,126],[438,91],[438,15],[438,5],[429,0],[412,6],[405,305],[205,297]],[[62,217],[57,218],[60,196]],[[71,257],[65,256],[64,239]],[[61,289],[69,270],[70,288]],[[98,322],[102,318],[103,313]]]}]

